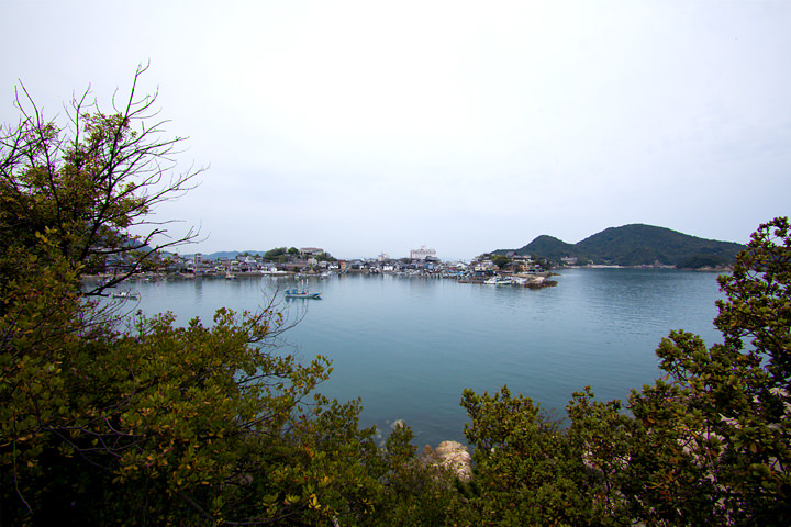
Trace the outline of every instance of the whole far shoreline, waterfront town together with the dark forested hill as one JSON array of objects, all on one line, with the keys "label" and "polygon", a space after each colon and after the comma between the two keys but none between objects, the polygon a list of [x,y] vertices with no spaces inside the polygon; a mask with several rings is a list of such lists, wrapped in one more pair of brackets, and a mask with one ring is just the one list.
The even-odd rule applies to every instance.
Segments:
[{"label": "whole far shoreline, waterfront town together with the dark forested hill", "polygon": [[[160,265],[147,278],[194,279],[241,276],[319,277],[342,273],[445,278],[466,283],[545,288],[556,282],[553,269],[568,267],[651,267],[722,271],[745,248],[733,242],[698,238],[653,225],[610,227],[578,244],[542,235],[519,249],[497,249],[472,261],[443,261],[422,246],[409,257],[335,258],[321,247],[278,247],[267,251],[211,255],[158,254]],[[146,254],[154,253],[146,247]],[[145,250],[144,249],[144,250]],[[133,258],[133,257],[129,257]],[[134,272],[135,261],[108,260],[96,269],[109,278]]]}]

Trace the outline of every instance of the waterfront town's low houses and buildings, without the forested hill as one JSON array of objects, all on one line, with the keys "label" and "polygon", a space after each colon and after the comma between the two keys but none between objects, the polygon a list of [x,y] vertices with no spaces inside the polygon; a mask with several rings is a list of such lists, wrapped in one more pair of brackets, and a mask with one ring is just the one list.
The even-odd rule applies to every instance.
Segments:
[{"label": "waterfront town's low houses and buildings, without the forested hill", "polygon": [[288,273],[404,273],[443,277],[487,277],[498,274],[535,273],[542,269],[530,256],[506,255],[508,262],[498,266],[491,255],[481,255],[471,262],[442,261],[434,249],[421,247],[410,251],[409,258],[393,259],[388,255],[377,258],[335,259],[317,247],[303,247],[298,251],[280,255],[270,261],[261,255],[236,257],[174,256],[168,271],[190,276],[230,276],[237,273],[288,274]]}]

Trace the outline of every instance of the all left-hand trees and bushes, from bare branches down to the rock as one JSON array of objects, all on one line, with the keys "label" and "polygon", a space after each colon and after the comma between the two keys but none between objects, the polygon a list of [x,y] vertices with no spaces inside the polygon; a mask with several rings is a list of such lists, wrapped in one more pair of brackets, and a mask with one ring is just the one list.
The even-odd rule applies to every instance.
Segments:
[{"label": "all left-hand trees and bushes, from bare branches down to the rock", "polygon": [[[82,274],[119,255],[130,273],[147,266],[155,253],[130,251],[127,228],[182,188],[157,164],[172,143],[137,142],[153,128],[133,126],[135,104],[77,112],[70,137],[37,111],[3,130],[0,523],[445,522],[457,493],[414,463],[409,429],[379,448],[358,401],[317,394],[330,361],[283,354],[274,306],[178,326],[91,300],[103,290]],[[433,504],[415,491],[401,506],[408,487]]]}]

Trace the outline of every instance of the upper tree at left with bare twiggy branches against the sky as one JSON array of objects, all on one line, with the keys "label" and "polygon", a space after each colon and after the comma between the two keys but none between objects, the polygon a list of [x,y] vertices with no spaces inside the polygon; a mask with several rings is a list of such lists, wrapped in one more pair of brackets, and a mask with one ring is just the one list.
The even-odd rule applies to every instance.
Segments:
[{"label": "upper tree at left with bare twiggy branches against the sky", "polygon": [[[177,158],[187,138],[164,135],[168,121],[159,117],[155,106],[157,91],[138,96],[147,69],[147,64],[137,67],[123,104],[118,104],[116,91],[110,114],[90,101],[90,88],[73,97],[66,127],[47,121],[20,82],[15,104],[22,117],[14,128],[3,127],[0,134],[0,178],[8,191],[20,202],[51,203],[38,208],[38,216],[25,216],[21,208],[15,220],[23,222],[31,236],[45,226],[56,229],[62,253],[85,266],[85,272],[108,265],[121,270],[86,291],[87,295],[107,294],[108,288],[156,266],[164,250],[200,235],[190,227],[181,236],[163,240],[174,222],[151,218],[156,205],[193,189],[205,168],[189,166],[179,171]],[[133,234],[141,229],[144,234]]]}]

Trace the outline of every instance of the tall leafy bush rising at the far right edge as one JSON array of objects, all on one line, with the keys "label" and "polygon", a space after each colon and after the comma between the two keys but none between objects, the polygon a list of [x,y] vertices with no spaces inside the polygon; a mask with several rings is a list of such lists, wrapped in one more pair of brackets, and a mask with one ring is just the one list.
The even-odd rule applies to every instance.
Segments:
[{"label": "tall leafy bush rising at the far right edge", "polygon": [[[706,349],[695,336],[672,333],[657,350],[670,373],[677,412],[694,415],[684,438],[713,481],[717,513],[744,525],[791,520],[791,235],[788,218],[754,233],[731,276],[714,321],[724,343]],[[666,391],[669,389],[666,389]],[[666,395],[634,397],[635,415]],[[647,413],[646,415],[651,415]]]}]

